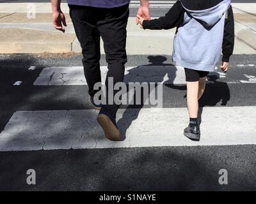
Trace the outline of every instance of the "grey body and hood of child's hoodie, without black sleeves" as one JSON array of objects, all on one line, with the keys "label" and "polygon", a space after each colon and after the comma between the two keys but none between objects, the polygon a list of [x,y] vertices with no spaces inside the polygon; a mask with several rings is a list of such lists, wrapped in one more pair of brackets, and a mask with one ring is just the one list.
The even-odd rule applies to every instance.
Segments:
[{"label": "grey body and hood of child's hoodie, without black sleeves", "polygon": [[230,0],[206,10],[186,10],[174,40],[173,61],[200,71],[214,71],[221,56],[225,17]]}]

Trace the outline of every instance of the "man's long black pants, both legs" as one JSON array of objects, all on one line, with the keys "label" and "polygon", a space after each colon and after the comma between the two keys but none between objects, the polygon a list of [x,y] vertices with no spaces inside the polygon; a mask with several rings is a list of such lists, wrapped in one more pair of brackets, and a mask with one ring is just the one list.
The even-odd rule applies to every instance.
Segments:
[{"label": "man's long black pants, both legs", "polygon": [[[104,43],[106,61],[108,62],[107,90],[108,77],[113,77],[114,85],[117,82],[123,82],[125,63],[127,62],[125,47],[129,5],[127,4],[118,8],[68,6],[70,7],[70,17],[74,24],[76,36],[83,52],[84,75],[90,96],[94,96],[98,91],[93,90],[93,85],[101,82],[100,36]],[[114,94],[115,92],[113,91]],[[107,110],[115,115],[118,106],[102,105],[102,110]]]}]

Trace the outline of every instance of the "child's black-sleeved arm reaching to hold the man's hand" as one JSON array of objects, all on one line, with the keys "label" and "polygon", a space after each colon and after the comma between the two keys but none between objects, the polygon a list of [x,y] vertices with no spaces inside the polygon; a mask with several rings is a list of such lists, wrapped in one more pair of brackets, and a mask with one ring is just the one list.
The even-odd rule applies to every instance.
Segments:
[{"label": "child's black-sleeved arm reaching to hold the man's hand", "polygon": [[184,20],[184,8],[180,1],[177,1],[164,17],[154,20],[144,20],[138,17],[140,24],[144,29],[161,30],[172,29],[182,24]]}]

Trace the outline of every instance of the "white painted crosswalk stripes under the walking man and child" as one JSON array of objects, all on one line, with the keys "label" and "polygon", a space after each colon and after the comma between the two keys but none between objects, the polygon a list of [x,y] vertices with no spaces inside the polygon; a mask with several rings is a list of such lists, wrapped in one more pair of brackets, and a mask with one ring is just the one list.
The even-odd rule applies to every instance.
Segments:
[{"label": "white painted crosswalk stripes under the walking man and child", "polygon": [[[252,66],[244,64],[243,69],[246,67],[252,69]],[[106,66],[101,67],[102,80],[106,78],[107,70]],[[29,71],[36,71],[35,66]],[[216,68],[209,75],[210,79],[215,80],[207,83],[237,86],[255,83],[254,76],[244,73],[236,75],[237,78],[228,78],[227,74]],[[186,83],[184,69],[172,64],[128,67],[125,70],[125,83],[128,82],[160,82],[170,85],[172,89],[179,89]],[[86,80],[80,66],[51,66],[42,68],[30,86],[35,89],[61,86],[67,89],[86,86]],[[164,90],[163,94],[167,94]],[[121,142],[111,142],[104,137],[96,120],[98,113],[90,109],[17,110],[0,133],[0,151],[256,144],[254,105],[202,108],[200,142],[193,142],[183,135],[183,129],[188,125],[188,110],[184,107],[121,108],[117,113],[117,124],[123,138]]]}]

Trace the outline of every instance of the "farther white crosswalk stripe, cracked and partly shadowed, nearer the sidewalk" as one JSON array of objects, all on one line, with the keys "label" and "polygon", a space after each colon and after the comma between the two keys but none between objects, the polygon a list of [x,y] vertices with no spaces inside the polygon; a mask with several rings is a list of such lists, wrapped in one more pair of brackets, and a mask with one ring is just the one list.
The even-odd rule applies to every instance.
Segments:
[{"label": "farther white crosswalk stripe, cracked and partly shadowed, nearer the sidewalk", "polygon": [[[106,79],[108,68],[101,66],[102,82]],[[225,73],[212,72],[210,76],[226,78]],[[186,84],[184,69],[179,66],[139,66],[125,69],[124,82],[161,82],[162,84]],[[242,75],[236,81],[227,84],[256,83],[255,80]],[[33,85],[87,85],[83,67],[49,67],[44,68]]]}]

